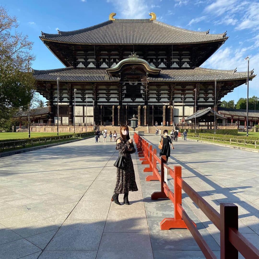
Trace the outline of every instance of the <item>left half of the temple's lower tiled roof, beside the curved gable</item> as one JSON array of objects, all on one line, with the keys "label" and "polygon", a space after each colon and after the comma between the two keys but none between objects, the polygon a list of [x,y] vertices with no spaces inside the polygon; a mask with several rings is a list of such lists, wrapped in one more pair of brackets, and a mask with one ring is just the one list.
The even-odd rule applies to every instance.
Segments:
[{"label": "left half of the temple's lower tiled roof, beside the curved gable", "polygon": [[89,68],[59,68],[52,70],[33,70],[33,76],[36,80],[56,81],[59,77],[60,81],[67,82],[103,82],[103,81],[119,81],[120,78],[110,76],[106,69],[89,69]]}]

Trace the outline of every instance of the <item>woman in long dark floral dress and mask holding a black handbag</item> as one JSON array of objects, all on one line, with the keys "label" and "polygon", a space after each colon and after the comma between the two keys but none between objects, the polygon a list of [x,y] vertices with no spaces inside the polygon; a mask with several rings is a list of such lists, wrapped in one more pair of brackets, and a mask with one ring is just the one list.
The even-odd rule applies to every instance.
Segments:
[{"label": "woman in long dark floral dress and mask holding a black handbag", "polygon": [[114,194],[112,196],[112,201],[118,205],[119,194],[124,193],[123,202],[126,205],[130,205],[128,201],[129,191],[138,191],[138,187],[135,181],[135,172],[133,168],[133,163],[131,159],[131,154],[136,152],[134,148],[133,139],[130,138],[129,128],[126,125],[120,126],[120,137],[116,142],[116,149],[119,150],[119,154],[125,157],[126,167],[125,169],[117,168],[117,182],[114,189]]}]

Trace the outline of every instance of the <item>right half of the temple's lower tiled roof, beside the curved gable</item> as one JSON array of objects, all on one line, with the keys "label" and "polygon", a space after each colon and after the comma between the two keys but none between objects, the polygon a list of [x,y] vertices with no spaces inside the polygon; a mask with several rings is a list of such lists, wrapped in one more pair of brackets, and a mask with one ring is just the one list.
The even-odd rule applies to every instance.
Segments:
[{"label": "right half of the temple's lower tiled roof, beside the curved gable", "polygon": [[[249,72],[251,78],[256,75],[253,70]],[[197,81],[218,81],[246,79],[247,72],[236,72],[232,70],[217,70],[209,68],[196,67],[194,69],[163,69],[158,77],[149,77],[148,81],[166,81],[166,82],[197,82]]]}]

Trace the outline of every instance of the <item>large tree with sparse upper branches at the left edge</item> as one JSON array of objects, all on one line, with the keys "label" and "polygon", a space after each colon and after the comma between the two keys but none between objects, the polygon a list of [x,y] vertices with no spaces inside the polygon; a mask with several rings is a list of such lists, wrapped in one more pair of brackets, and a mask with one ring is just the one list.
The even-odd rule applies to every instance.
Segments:
[{"label": "large tree with sparse upper branches at the left edge", "polygon": [[17,32],[17,27],[17,18],[0,6],[0,127],[1,122],[10,120],[12,111],[28,106],[35,92],[33,43]]}]

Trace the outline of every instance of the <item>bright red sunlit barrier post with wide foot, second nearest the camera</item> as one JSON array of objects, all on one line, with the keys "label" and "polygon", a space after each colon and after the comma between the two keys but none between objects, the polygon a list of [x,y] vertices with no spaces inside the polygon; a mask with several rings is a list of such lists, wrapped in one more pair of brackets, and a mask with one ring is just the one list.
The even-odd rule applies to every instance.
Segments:
[{"label": "bright red sunlit barrier post with wide foot, second nearest the camera", "polygon": [[174,178],[174,218],[164,218],[160,222],[160,228],[162,230],[167,230],[170,228],[187,228],[185,222],[183,221],[181,215],[179,214],[177,207],[178,204],[182,205],[182,188],[177,183],[177,177],[182,177],[182,167],[174,166],[173,178]]}]

